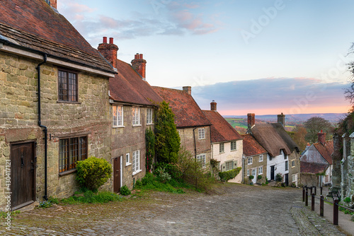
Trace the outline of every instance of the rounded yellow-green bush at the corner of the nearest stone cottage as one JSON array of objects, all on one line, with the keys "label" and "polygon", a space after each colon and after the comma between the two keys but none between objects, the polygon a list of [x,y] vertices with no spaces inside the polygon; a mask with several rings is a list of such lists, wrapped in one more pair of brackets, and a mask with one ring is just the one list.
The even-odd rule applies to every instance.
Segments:
[{"label": "rounded yellow-green bush at the corner of the nearest stone cottage", "polygon": [[112,175],[112,167],[107,160],[90,157],[76,164],[76,180],[80,187],[97,191]]}]

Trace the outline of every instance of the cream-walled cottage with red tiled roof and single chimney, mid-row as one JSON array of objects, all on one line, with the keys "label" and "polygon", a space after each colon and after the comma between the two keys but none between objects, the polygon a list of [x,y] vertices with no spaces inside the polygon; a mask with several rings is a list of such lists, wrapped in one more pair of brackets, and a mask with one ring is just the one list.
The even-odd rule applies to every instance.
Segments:
[{"label": "cream-walled cottage with red tiled roof and single chimney, mid-row", "polygon": [[[209,119],[212,138],[212,157],[219,162],[219,171],[224,172],[242,166],[242,138],[239,133],[217,112],[217,102],[210,103],[210,110],[203,110]],[[242,175],[236,175],[229,182],[241,183]]]}]

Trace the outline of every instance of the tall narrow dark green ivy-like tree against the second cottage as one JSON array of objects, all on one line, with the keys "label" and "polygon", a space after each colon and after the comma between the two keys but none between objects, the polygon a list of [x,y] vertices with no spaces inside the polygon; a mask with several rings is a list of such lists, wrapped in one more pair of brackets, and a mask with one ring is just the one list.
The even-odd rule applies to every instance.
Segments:
[{"label": "tall narrow dark green ivy-like tree against the second cottage", "polygon": [[163,101],[156,112],[156,160],[159,163],[176,163],[181,138],[176,129],[174,114],[169,103]]}]

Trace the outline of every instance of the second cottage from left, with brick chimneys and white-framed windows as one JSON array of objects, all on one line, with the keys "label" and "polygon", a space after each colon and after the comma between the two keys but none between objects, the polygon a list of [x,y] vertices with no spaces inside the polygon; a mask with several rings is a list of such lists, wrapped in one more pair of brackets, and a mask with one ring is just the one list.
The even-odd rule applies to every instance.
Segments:
[{"label": "second cottage from left, with brick chimneys and white-framed windows", "polygon": [[109,79],[110,117],[112,117],[113,184],[114,191],[122,185],[132,189],[137,179],[144,177],[145,130],[154,131],[154,110],[162,98],[147,83],[143,54],[135,54],[132,65],[118,59],[118,46],[110,37],[103,37],[98,51],[118,74]]}]

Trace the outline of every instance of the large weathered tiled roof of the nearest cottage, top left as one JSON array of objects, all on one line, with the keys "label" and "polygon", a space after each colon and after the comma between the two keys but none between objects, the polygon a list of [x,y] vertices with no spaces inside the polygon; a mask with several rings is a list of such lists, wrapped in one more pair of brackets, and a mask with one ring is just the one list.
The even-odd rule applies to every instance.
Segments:
[{"label": "large weathered tiled roof of the nearest cottage, top left", "polygon": [[74,26],[44,0],[0,1],[0,39],[10,45],[114,72]]}]

